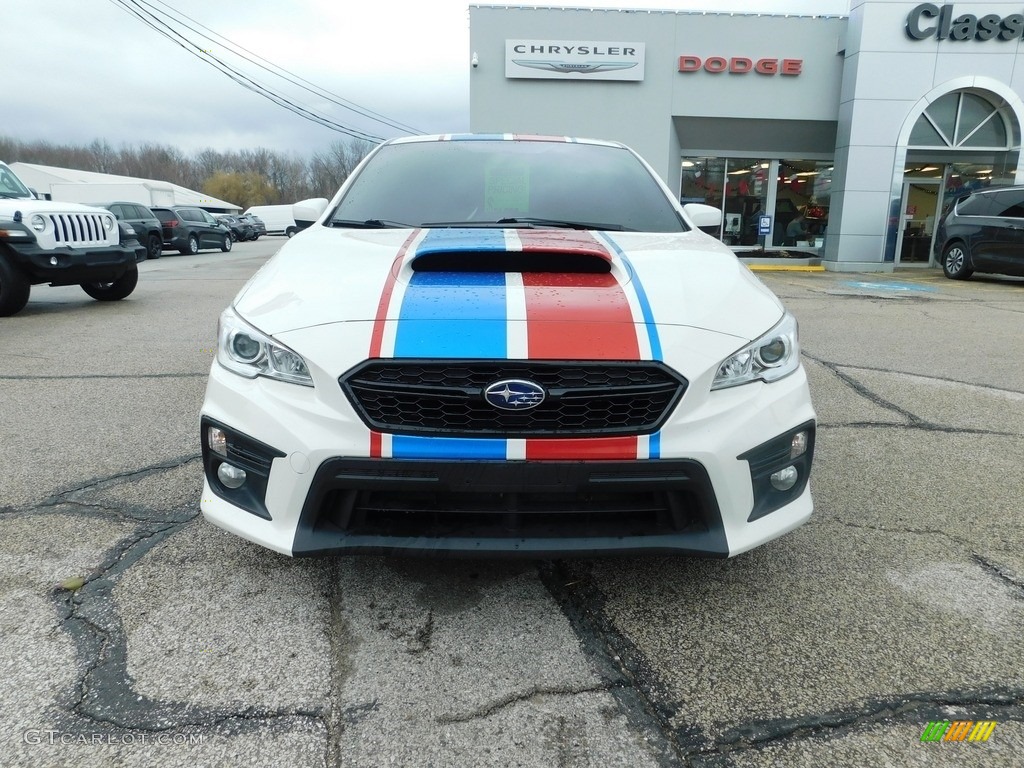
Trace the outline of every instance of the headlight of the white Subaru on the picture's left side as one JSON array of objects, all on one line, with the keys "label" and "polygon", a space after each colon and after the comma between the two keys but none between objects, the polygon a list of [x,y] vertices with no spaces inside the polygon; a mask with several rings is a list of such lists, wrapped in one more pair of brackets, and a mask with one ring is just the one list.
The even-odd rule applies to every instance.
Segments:
[{"label": "headlight of the white Subaru on the picture's left side", "polygon": [[217,326],[217,362],[249,379],[265,376],[307,387],[313,385],[302,357],[257,331],[230,307],[221,313]]}]

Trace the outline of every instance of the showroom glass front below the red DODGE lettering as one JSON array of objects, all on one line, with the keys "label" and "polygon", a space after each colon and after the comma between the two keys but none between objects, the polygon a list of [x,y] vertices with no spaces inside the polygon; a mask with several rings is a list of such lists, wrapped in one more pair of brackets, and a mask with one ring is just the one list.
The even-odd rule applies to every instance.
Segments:
[{"label": "showroom glass front below the red DODGE lettering", "polygon": [[[680,202],[720,209],[719,237],[744,255],[814,256],[824,245],[831,174],[830,161],[683,158]],[[767,237],[759,233],[765,214]]]}]

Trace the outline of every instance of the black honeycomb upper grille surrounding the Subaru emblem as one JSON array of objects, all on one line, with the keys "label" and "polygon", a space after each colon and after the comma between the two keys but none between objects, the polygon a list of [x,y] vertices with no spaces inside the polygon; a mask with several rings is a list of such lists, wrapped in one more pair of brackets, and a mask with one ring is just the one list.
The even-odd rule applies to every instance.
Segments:
[{"label": "black honeycomb upper grille surrounding the Subaru emblem", "polygon": [[[504,379],[536,382],[547,396],[528,411],[497,409],[483,390]],[[687,384],[646,360],[368,360],[339,381],[373,429],[496,437],[649,434]]]}]

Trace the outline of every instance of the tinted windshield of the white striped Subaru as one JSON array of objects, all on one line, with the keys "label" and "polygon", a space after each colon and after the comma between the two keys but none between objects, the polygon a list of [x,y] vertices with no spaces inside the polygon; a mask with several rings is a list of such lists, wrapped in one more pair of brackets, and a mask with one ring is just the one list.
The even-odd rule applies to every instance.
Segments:
[{"label": "tinted windshield of the white striped Subaru", "polygon": [[389,144],[352,179],[330,223],[685,229],[628,150],[548,140]]}]

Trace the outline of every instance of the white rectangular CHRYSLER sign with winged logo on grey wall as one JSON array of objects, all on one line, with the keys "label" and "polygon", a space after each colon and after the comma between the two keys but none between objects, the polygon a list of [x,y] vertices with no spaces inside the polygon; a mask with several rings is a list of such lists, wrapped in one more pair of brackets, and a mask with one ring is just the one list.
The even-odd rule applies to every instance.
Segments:
[{"label": "white rectangular CHRYSLER sign with winged logo on grey wall", "polygon": [[505,77],[535,80],[643,80],[643,43],[506,40]]}]

